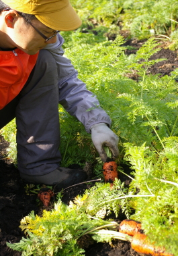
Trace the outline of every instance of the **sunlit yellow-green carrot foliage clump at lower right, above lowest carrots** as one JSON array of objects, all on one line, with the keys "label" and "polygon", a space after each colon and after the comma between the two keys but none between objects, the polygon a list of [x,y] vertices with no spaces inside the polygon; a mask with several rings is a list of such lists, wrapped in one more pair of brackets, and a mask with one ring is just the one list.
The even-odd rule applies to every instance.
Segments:
[{"label": "sunlit yellow-green carrot foliage clump at lower right, above lowest carrots", "polygon": [[131,218],[142,222],[142,228],[156,245],[177,255],[178,137],[164,138],[163,143],[159,154],[145,145],[125,145],[126,159],[134,170],[130,191],[139,191],[138,196],[152,195],[132,198],[130,206],[135,213]]}]

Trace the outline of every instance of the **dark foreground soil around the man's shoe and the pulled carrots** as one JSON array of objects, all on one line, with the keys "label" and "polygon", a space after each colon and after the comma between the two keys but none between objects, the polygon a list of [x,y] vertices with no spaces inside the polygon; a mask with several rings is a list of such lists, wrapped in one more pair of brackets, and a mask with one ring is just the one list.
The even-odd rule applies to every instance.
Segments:
[{"label": "dark foreground soil around the man's shoe and the pulled carrots", "polygon": [[[19,228],[19,222],[22,217],[25,217],[34,211],[36,214],[40,214],[42,205],[39,205],[36,201],[37,196],[35,194],[27,195],[26,182],[21,180],[17,168],[11,163],[11,160],[7,158],[6,147],[7,143],[1,139],[1,155],[0,155],[0,255],[1,256],[19,256],[21,253],[9,249],[6,242],[19,242],[24,232],[21,232]],[[127,168],[129,174],[130,170]],[[120,174],[120,179],[125,182],[126,186],[130,183],[130,179],[123,174]],[[81,184],[64,190],[62,201],[69,204],[69,201],[74,199],[77,195],[83,194],[84,190],[89,188],[91,184]],[[123,214],[120,214],[118,221],[126,218]],[[114,242],[113,247],[108,243],[92,243],[92,245],[86,244],[86,256],[114,256],[114,255],[138,255],[132,249],[130,249],[129,242]]]}]

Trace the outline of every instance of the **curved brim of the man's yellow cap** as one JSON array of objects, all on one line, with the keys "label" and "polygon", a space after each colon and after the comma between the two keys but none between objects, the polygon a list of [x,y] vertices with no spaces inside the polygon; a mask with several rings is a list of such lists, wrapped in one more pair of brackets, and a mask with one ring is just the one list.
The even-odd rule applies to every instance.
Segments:
[{"label": "curved brim of the man's yellow cap", "polygon": [[81,19],[75,9],[73,9],[71,3],[69,3],[65,9],[51,14],[36,15],[36,18],[49,28],[60,31],[75,30],[82,24]]}]

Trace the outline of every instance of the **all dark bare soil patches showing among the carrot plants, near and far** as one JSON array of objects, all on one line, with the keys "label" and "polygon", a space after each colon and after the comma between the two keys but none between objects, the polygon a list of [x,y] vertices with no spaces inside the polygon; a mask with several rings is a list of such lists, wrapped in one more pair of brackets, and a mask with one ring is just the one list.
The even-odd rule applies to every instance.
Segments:
[{"label": "all dark bare soil patches showing among the carrot plants, near and far", "polygon": [[[126,54],[134,54],[136,50],[144,43],[144,41],[132,40],[125,45],[130,46],[126,49]],[[160,74],[165,76],[178,68],[177,51],[169,49],[161,49],[154,54],[152,59],[166,58],[166,61],[161,61],[149,70],[152,74]],[[19,242],[24,232],[19,228],[20,220],[28,215],[30,211],[40,214],[42,205],[36,201],[35,194],[26,192],[26,182],[21,180],[17,168],[8,159],[6,148],[8,143],[0,137],[0,256],[20,256],[21,253],[13,251],[7,247],[6,242]],[[123,166],[124,172],[130,174],[127,165]],[[89,177],[92,178],[92,177]],[[126,186],[130,184],[127,176],[120,175],[122,182]],[[62,201],[69,203],[77,195],[81,195],[83,191],[89,188],[89,184],[81,184],[64,190]],[[124,220],[125,216],[120,214],[118,221]],[[121,240],[114,241],[112,245],[109,243],[93,243],[85,248],[86,256],[138,256],[138,253],[132,250],[129,242]],[[44,255],[45,256],[45,255]],[[142,255],[143,256],[143,255]]]}]

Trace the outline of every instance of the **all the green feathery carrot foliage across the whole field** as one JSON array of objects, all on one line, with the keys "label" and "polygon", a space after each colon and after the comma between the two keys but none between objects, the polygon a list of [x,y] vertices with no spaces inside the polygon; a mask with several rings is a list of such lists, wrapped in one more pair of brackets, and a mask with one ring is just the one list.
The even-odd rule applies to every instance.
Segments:
[{"label": "all the green feathery carrot foliage across the whole field", "polygon": [[[163,61],[152,60],[161,49],[152,33],[156,37],[163,34],[165,39],[175,42],[177,1],[72,3],[87,22],[75,32],[62,32],[66,39],[65,55],[112,119],[111,129],[120,137],[118,160],[129,163],[134,178],[129,190],[119,181],[116,190],[110,190],[107,184],[96,184],[69,206],[59,200],[41,218],[31,213],[21,222],[28,238],[9,247],[23,251],[23,255],[83,255],[77,244],[79,238],[107,225],[102,217],[109,217],[111,212],[118,216],[123,211],[127,217],[142,222],[156,245],[177,255],[178,69],[171,76],[150,74],[150,67]],[[136,54],[126,55],[118,24],[130,29],[132,36],[148,39]],[[110,41],[113,34],[116,39]],[[59,110],[62,165],[77,163],[83,167],[88,162],[95,165],[95,175],[99,176],[101,163],[97,161],[99,155],[91,135],[62,107]],[[11,123],[1,133],[5,139],[14,141],[14,131],[15,124]],[[112,239],[104,238],[104,233],[102,237],[95,233],[94,237],[102,241]]]}]

